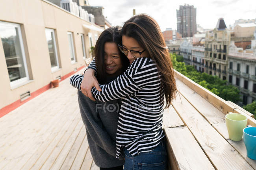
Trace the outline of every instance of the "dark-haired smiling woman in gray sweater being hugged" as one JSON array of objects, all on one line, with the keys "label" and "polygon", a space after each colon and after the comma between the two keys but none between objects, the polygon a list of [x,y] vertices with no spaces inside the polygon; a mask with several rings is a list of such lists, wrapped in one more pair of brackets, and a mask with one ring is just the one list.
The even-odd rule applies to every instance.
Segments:
[{"label": "dark-haired smiling woman in gray sweater being hugged", "polygon": [[[129,60],[117,47],[122,44],[121,27],[110,27],[100,34],[95,45],[95,61],[98,72],[96,79],[100,84],[115,80],[129,66]],[[70,84],[80,89],[81,81],[74,75]],[[83,77],[82,77],[83,78]],[[76,80],[76,82],[74,82]],[[100,170],[122,170],[124,156],[116,156],[116,132],[120,100],[111,102],[92,101],[78,90],[78,103],[87,140],[95,164]]]}]

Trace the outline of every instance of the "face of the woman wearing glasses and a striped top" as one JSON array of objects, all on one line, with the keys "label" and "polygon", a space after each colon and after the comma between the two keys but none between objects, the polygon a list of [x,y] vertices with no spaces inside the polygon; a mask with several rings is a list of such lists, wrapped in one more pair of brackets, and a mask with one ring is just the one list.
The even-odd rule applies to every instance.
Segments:
[{"label": "face of the woman wearing glasses and a striped top", "polygon": [[[134,50],[139,52],[145,50],[134,38],[125,35],[122,36],[122,46],[128,50]],[[148,57],[148,52],[144,51],[140,57]],[[132,62],[136,59],[134,58],[134,56],[132,56],[131,52],[128,52],[127,58],[129,59],[130,64],[132,64]]]}]

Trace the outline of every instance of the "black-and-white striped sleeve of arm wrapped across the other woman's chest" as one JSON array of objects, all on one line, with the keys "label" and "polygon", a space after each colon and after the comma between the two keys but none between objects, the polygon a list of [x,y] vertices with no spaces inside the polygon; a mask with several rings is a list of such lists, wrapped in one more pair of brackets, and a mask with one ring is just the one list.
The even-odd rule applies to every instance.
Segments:
[{"label": "black-and-white striped sleeve of arm wrapped across the other woman's chest", "polygon": [[156,65],[150,64],[148,60],[150,59],[144,57],[137,58],[124,74],[106,85],[100,85],[102,91],[93,87],[92,93],[95,99],[103,102],[120,99],[151,83],[151,77],[157,76],[157,69]]}]

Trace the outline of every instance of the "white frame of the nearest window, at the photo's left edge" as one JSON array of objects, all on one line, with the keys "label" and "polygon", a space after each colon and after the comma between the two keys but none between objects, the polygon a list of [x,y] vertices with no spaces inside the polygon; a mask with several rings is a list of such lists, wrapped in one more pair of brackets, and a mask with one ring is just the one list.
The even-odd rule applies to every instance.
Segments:
[{"label": "white frame of the nearest window, at the photo's left edge", "polygon": [[[24,63],[24,69],[25,69],[26,77],[20,78],[20,79],[15,80],[15,81],[10,81],[11,89],[15,89],[15,88],[19,87],[20,84],[30,80],[29,73],[28,73],[28,65],[27,65],[27,60],[26,60],[26,54],[25,54],[25,49],[24,49],[24,44],[23,44],[24,42],[23,42],[21,29],[20,29],[20,24],[14,24],[14,23],[10,23],[10,22],[0,21],[0,25],[6,25],[6,26],[9,26],[9,27],[17,27],[18,28],[17,32],[18,32],[18,36],[19,36],[20,51],[21,51],[22,60],[23,60],[23,63]],[[0,36],[0,39],[1,39],[1,36]],[[0,43],[2,44],[2,40],[1,40]],[[3,51],[4,51],[4,49],[3,49]],[[6,68],[7,68],[7,63],[6,63]],[[8,68],[7,68],[7,72],[8,72]],[[8,76],[9,76],[9,72],[8,72]]]}]

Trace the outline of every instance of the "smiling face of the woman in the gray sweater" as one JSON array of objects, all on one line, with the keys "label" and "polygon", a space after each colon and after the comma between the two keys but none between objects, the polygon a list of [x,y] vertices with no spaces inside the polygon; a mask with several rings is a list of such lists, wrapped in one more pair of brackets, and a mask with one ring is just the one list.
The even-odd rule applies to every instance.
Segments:
[{"label": "smiling face of the woman in the gray sweater", "polygon": [[122,61],[116,43],[106,42],[104,44],[104,64],[107,74],[121,71]]}]

